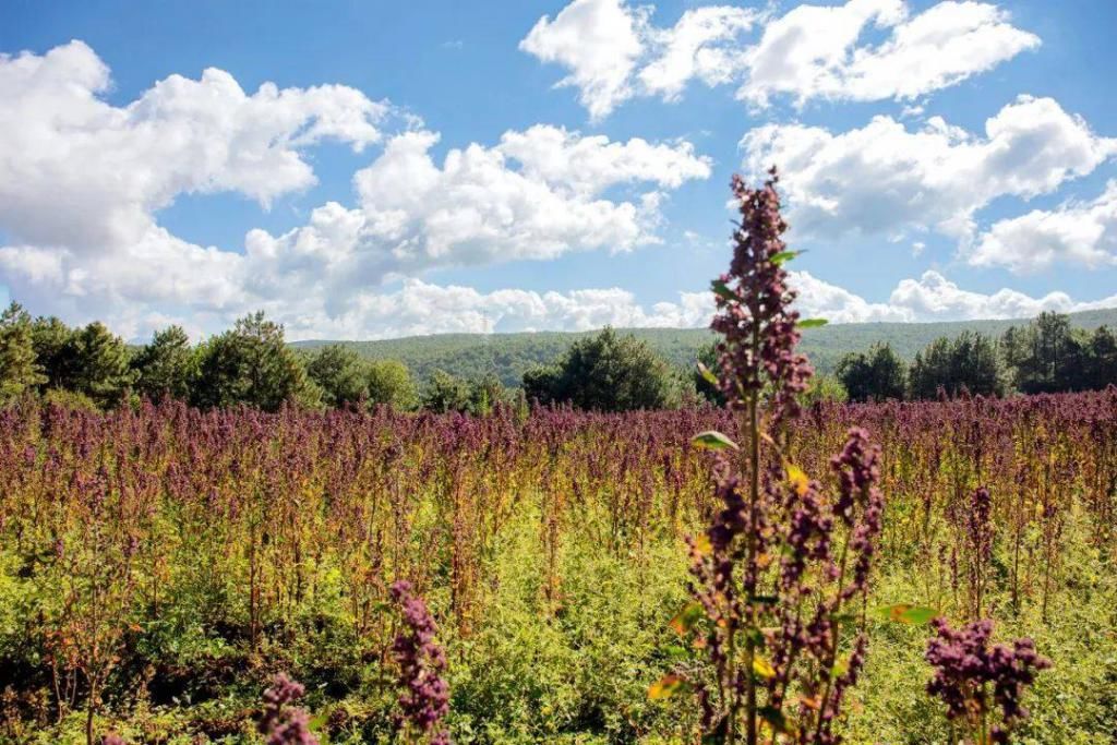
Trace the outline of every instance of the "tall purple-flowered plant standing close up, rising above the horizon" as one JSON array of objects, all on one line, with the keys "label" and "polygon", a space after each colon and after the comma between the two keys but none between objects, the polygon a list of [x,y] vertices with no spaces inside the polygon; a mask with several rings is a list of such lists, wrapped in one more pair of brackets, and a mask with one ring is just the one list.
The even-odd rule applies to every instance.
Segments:
[{"label": "tall purple-flowered plant standing close up, rising above the horizon", "polygon": [[[790,427],[811,367],[795,352],[800,322],[783,264],[775,171],[762,189],[733,182],[741,225],[729,274],[714,283],[712,327],[720,375],[707,370],[738,417],[744,442],[704,432],[695,443],[717,451],[722,505],[690,542],[693,610],[705,615],[698,646],[713,681],[695,680],[703,726],[714,742],[791,738],[837,743],[847,690],[865,663],[865,600],[880,533],[879,449],[861,429],[831,462],[834,493],[790,460]],[[843,638],[843,629],[850,633]]]}]

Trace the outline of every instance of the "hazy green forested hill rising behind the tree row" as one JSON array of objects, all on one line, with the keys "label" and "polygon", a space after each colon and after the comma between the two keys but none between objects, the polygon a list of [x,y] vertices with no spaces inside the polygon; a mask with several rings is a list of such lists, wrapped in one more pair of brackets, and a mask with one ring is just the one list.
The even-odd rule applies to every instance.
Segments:
[{"label": "hazy green forested hill rising behind the tree row", "polygon": [[[1117,328],[1117,308],[1070,314],[1071,323],[1086,329],[1098,326]],[[941,323],[859,323],[833,324],[803,333],[802,348],[814,366],[831,372],[847,352],[868,348],[875,342],[887,342],[904,359],[939,336],[956,336],[963,331],[976,331],[1000,336],[1009,326],[1027,324],[1014,321],[962,321]],[[626,328],[638,338],[647,340],[663,357],[677,365],[689,366],[697,350],[714,335],[704,328]],[[296,342],[294,346],[315,348],[341,343],[362,356],[375,360],[400,360],[411,372],[426,381],[435,370],[462,378],[479,378],[495,372],[505,385],[518,385],[524,371],[547,364],[562,354],[575,340],[596,332],[525,332],[516,334],[438,334],[409,336],[375,342]]]}]

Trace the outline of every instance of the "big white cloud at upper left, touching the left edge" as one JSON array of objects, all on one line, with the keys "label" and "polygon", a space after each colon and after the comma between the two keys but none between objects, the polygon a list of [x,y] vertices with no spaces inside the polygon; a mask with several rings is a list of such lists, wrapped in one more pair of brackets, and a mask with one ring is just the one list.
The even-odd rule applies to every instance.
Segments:
[{"label": "big white cloud at upper left, touching the left edge", "polygon": [[389,113],[344,86],[247,95],[218,69],[173,75],[124,107],[103,101],[108,87],[80,41],[0,56],[0,225],[15,240],[76,251],[142,240],[183,193],[267,206],[315,183],[302,149],[330,137],[360,151]]}]

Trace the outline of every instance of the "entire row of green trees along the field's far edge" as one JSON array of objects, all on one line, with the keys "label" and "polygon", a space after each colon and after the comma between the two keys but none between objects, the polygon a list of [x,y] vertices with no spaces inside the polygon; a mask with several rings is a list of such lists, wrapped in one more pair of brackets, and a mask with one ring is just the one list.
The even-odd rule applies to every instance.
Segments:
[{"label": "entire row of green trees along the field's far edge", "polygon": [[[698,355],[707,369],[716,367],[716,356],[713,345]],[[1114,333],[1105,326],[1072,328],[1067,316],[1048,313],[995,341],[973,332],[938,338],[910,364],[887,344],[847,354],[836,375],[812,380],[804,398],[1004,395],[1095,390],[1114,382]],[[528,370],[518,388],[505,386],[494,373],[465,379],[441,370],[420,384],[402,362],[366,360],[346,345],[294,350],[284,327],[264,313],[249,314],[198,344],[180,326],[170,326],[133,347],[99,322],[70,327],[56,317],[32,317],[12,303],[0,314],[0,402],[27,394],[99,409],[170,398],[201,409],[275,411],[290,402],[477,416],[498,404],[526,409],[532,402],[600,411],[722,403],[701,374],[671,365],[647,342],[612,328],[580,338],[550,365]]]}]

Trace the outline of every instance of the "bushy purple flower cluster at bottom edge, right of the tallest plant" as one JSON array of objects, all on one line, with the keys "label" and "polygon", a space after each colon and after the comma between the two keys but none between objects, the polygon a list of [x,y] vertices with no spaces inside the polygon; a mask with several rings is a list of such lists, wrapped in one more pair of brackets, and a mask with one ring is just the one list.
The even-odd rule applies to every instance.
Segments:
[{"label": "bushy purple flower cluster at bottom edge, right of the tallest plant", "polygon": [[1031,639],[990,647],[993,622],[987,619],[957,630],[942,618],[932,625],[936,636],[927,642],[926,658],[935,676],[927,693],[946,704],[946,717],[962,727],[967,744],[1010,742],[1029,716],[1021,704],[1024,690],[1051,660],[1037,653]]}]

